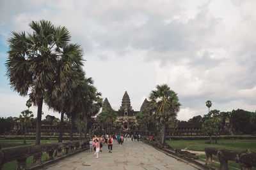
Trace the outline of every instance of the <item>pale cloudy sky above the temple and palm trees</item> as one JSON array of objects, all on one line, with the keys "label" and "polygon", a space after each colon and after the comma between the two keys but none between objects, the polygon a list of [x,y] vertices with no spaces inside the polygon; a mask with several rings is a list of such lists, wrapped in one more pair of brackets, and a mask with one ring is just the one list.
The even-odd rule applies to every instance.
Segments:
[{"label": "pale cloudy sky above the temple and palm trees", "polygon": [[[4,63],[12,31],[50,20],[67,27],[84,50],[84,70],[121,106],[135,111],[156,85],[167,83],[180,100],[179,120],[211,109],[256,110],[256,1],[249,0],[1,0],[0,117],[18,117],[28,97],[10,89]],[[36,115],[36,107],[31,111]],[[44,104],[44,115],[60,117]]]}]

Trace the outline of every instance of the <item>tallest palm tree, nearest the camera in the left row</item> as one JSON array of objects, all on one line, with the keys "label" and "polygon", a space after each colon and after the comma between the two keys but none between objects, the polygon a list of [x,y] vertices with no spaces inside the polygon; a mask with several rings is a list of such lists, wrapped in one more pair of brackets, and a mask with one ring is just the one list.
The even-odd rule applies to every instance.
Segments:
[{"label": "tallest palm tree, nearest the camera in the left row", "polygon": [[32,33],[12,32],[6,67],[12,89],[20,96],[31,92],[31,102],[38,106],[35,143],[38,145],[45,94],[51,90],[55,96],[65,86],[68,76],[73,74],[70,66],[82,65],[82,50],[79,45],[69,43],[70,33],[65,27],[54,27],[45,20],[33,21],[29,27]]}]

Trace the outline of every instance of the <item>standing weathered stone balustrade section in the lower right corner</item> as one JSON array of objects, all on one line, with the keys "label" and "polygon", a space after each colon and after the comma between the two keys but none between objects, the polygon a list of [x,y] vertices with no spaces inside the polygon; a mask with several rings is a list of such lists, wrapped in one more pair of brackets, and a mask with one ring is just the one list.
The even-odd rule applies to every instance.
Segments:
[{"label": "standing weathered stone balustrade section in the lower right corner", "polygon": [[232,150],[221,150],[218,148],[205,148],[206,165],[212,164],[212,155],[216,155],[220,161],[220,169],[228,169],[228,160],[239,163],[242,170],[256,167],[256,153],[239,153]]}]

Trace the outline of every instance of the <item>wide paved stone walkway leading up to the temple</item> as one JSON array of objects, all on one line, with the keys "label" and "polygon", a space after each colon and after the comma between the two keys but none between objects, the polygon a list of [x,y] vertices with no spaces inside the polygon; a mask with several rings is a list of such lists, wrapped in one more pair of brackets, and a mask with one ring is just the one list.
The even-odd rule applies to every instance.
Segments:
[{"label": "wide paved stone walkway leading up to the temple", "polygon": [[134,142],[129,139],[123,145],[116,141],[112,153],[108,153],[108,145],[104,144],[103,152],[96,159],[93,152],[86,150],[72,157],[44,167],[44,169],[196,169],[185,162],[174,159],[150,145]]}]

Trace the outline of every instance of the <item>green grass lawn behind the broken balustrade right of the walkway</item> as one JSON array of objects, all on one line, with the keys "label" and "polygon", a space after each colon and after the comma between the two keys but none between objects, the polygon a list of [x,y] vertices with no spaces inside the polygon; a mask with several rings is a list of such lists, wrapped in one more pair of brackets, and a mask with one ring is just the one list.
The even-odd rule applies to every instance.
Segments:
[{"label": "green grass lawn behind the broken balustrade right of the walkway", "polygon": [[[256,140],[218,140],[217,144],[209,144],[209,140],[176,140],[176,141],[166,141],[168,145],[172,148],[193,150],[193,151],[203,151],[206,147],[221,148],[226,150],[234,150],[237,152],[245,152],[247,149],[256,153]],[[215,141],[213,141],[215,142]],[[198,155],[199,159],[205,162],[205,155]],[[212,155],[212,164],[214,166],[220,167],[220,162],[218,157]],[[228,161],[228,167],[230,169],[240,169],[239,164],[236,162]],[[252,168],[256,170],[256,167]]]}]

